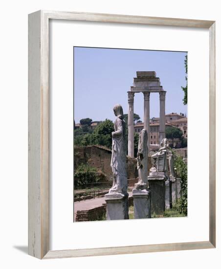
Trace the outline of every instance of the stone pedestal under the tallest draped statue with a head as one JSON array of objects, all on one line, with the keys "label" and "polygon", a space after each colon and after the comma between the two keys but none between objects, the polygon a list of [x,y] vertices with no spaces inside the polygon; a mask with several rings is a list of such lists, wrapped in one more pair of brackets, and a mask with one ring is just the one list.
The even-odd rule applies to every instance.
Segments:
[{"label": "stone pedestal under the tallest draped statue with a head", "polygon": [[108,193],[105,195],[107,203],[107,220],[129,219],[128,193]]}]

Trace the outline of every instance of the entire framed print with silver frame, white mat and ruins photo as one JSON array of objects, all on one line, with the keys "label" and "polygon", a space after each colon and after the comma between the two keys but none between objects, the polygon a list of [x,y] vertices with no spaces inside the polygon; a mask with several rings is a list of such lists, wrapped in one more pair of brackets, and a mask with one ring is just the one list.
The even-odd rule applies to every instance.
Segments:
[{"label": "entire framed print with silver frame, white mat and ruins photo", "polygon": [[215,22],[28,23],[29,254],[215,247]]}]

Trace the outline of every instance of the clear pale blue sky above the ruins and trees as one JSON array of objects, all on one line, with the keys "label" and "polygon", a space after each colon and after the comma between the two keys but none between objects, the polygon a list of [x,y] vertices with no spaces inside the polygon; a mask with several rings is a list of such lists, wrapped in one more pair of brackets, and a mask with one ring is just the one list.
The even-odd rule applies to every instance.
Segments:
[{"label": "clear pale blue sky above the ruins and trees", "polygon": [[[128,113],[127,91],[136,71],[155,71],[166,93],[166,113],[187,113],[182,103],[186,52],[74,47],[74,119],[114,120],[113,106]],[[143,94],[134,95],[143,120]],[[159,116],[159,94],[150,95],[150,117]]]}]

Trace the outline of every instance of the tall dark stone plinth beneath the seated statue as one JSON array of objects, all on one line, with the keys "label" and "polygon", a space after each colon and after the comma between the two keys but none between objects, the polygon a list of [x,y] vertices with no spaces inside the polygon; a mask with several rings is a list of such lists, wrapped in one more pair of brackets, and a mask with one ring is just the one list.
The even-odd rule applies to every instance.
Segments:
[{"label": "tall dark stone plinth beneath the seated statue", "polygon": [[151,211],[157,214],[165,211],[165,181],[164,172],[150,172],[148,177],[151,192]]}]

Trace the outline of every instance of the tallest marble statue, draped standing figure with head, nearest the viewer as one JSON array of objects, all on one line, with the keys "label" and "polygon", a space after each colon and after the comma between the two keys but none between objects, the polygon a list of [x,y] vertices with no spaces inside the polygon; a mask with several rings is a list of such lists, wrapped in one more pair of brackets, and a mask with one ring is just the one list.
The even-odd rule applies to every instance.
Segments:
[{"label": "tallest marble statue, draped standing figure with head, nearest the viewer", "polygon": [[123,119],[122,106],[117,104],[113,108],[117,117],[112,132],[112,156],[110,166],[113,173],[113,184],[109,193],[127,194],[127,170],[126,170],[126,124]]}]

